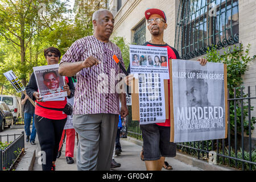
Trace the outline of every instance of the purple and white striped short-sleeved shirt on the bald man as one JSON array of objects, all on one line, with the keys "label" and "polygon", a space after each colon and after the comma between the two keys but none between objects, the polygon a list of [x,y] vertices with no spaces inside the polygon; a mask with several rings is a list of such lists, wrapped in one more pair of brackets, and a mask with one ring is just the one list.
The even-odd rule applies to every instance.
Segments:
[{"label": "purple and white striped short-sleeved shirt on the bald man", "polygon": [[84,68],[76,74],[73,114],[119,114],[119,95],[115,85],[119,82],[118,73],[122,72],[113,55],[124,66],[120,49],[112,42],[104,43],[94,36],[77,40],[63,55],[60,64],[84,61],[89,56],[101,61],[100,64]]}]

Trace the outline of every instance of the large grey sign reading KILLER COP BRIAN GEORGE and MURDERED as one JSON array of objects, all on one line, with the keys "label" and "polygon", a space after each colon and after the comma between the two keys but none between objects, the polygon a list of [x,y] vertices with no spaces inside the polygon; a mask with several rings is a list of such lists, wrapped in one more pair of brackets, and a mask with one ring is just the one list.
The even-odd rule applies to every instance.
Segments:
[{"label": "large grey sign reading KILLER COP BRIAN GEORGE and MURDERED", "polygon": [[226,65],[172,60],[171,141],[226,138]]}]

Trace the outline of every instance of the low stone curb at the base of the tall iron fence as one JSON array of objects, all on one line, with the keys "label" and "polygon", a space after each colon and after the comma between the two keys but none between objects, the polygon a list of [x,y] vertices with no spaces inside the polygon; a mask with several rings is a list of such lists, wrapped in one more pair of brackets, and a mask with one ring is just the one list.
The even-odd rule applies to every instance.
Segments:
[{"label": "low stone curb at the base of the tall iron fence", "polygon": [[[142,140],[137,140],[134,139],[132,137],[127,137],[127,138],[122,138],[123,140],[132,142],[134,144],[137,144],[139,146],[143,145],[143,141]],[[232,167],[226,167],[223,166],[221,164],[209,164],[208,162],[204,161],[204,160],[200,160],[197,158],[193,158],[190,155],[186,155],[186,154],[182,154],[181,152],[177,151],[176,152],[176,156],[175,159],[180,160],[181,162],[191,165],[193,167],[197,167],[200,169],[203,169],[204,171],[240,171],[239,169],[236,168],[232,168]]]}]

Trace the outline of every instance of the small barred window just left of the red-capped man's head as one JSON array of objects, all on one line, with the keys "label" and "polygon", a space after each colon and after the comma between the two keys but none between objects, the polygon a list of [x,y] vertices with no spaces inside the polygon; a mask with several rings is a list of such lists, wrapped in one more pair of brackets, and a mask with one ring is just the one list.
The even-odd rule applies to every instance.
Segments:
[{"label": "small barred window just left of the red-capped man's head", "polygon": [[146,20],[134,28],[133,44],[142,45],[146,42]]}]

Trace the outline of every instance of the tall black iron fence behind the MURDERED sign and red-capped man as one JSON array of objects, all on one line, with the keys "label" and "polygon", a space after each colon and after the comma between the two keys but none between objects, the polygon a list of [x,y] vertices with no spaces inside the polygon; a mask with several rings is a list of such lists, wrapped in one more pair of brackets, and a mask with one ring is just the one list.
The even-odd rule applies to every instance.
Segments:
[{"label": "tall black iron fence behind the MURDERED sign and red-capped man", "polygon": [[[209,152],[214,151],[218,164],[242,170],[256,170],[256,139],[251,137],[251,129],[255,123],[255,117],[251,114],[254,109],[251,102],[256,101],[256,86],[255,97],[251,96],[250,88],[247,87],[247,93],[244,93],[243,88],[237,88],[228,94],[228,138],[177,143],[177,150],[202,160],[208,160]],[[132,121],[131,118],[129,106],[127,134],[142,139],[139,121]]]}]

